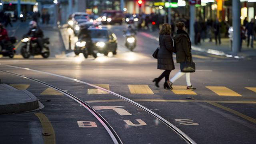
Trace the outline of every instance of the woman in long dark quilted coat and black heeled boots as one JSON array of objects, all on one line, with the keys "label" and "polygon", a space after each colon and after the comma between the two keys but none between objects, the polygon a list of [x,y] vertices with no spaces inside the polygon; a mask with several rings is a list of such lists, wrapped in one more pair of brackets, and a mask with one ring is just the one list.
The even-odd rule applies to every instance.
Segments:
[{"label": "woman in long dark quilted coat and black heeled boots", "polygon": [[174,44],[171,37],[170,24],[163,24],[159,32],[159,51],[157,58],[157,68],[164,70],[164,72],[153,80],[156,87],[159,88],[158,83],[165,77],[164,88],[172,89],[169,82],[170,72],[174,70],[174,62],[172,59],[172,52],[175,51]]}]

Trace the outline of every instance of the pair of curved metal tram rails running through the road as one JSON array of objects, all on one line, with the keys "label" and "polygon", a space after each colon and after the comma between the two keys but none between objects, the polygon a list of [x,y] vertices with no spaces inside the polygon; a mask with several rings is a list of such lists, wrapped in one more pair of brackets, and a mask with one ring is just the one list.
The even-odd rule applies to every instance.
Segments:
[{"label": "pair of curved metal tram rails running through the road", "polygon": [[[44,71],[40,71],[40,70],[33,70],[33,69],[30,69],[30,68],[23,68],[23,67],[18,67],[18,66],[11,66],[11,65],[7,65],[7,64],[1,64],[2,66],[8,66],[8,67],[12,67],[12,68],[18,68],[18,69],[23,69],[23,70],[29,70],[29,71],[33,71],[33,72],[38,72],[38,73],[42,73],[42,74],[48,74],[48,75],[51,75],[51,76],[56,76],[56,77],[59,77],[59,78],[64,78],[64,79],[68,79],[68,80],[72,80],[72,81],[75,81],[75,82],[78,82],[78,83],[82,83],[82,84],[86,84],[88,86],[91,86],[91,87],[94,87],[94,88],[97,88],[97,89],[100,89],[100,90],[103,90],[105,92],[108,92],[114,96],[117,96],[118,98],[121,98],[127,102],[130,102],[131,104],[134,104],[135,106],[145,110],[146,112],[148,112],[150,115],[154,116],[155,118],[157,118],[158,120],[160,120],[161,122],[163,122],[164,124],[166,124],[169,128],[171,128],[174,132],[176,132],[176,134],[178,134],[181,138],[183,138],[188,144],[196,144],[196,142],[194,142],[194,140],[192,140],[188,135],[186,135],[184,132],[182,132],[179,128],[177,128],[176,126],[174,126],[174,124],[170,123],[169,121],[167,121],[166,119],[164,119],[162,116],[156,114],[155,112],[153,112],[152,110],[142,106],[141,104],[138,104],[137,102],[134,102],[133,100],[130,100],[129,98],[126,98],[124,96],[121,96],[120,94],[116,94],[115,92],[112,92],[110,90],[106,90],[104,88],[101,88],[99,86],[96,86],[94,84],[90,84],[90,83],[87,83],[87,82],[84,82],[82,80],[78,80],[78,79],[75,79],[75,78],[70,78],[70,77],[67,77],[67,76],[62,76],[62,75],[58,75],[58,74],[53,74],[53,73],[50,73],[50,72],[44,72]],[[83,102],[82,100],[80,100],[79,98],[77,98],[76,96],[73,96],[72,94],[69,94],[68,92],[64,91],[64,90],[61,90],[60,88],[57,88],[55,86],[52,86],[51,84],[48,84],[46,82],[42,82],[40,80],[37,80],[37,79],[34,79],[34,78],[30,78],[28,76],[24,76],[24,75],[21,75],[21,74],[17,74],[17,73],[14,73],[14,72],[9,72],[9,71],[4,71],[4,70],[0,70],[2,72],[6,72],[6,73],[9,73],[9,74],[13,74],[13,75],[16,75],[16,76],[20,76],[20,77],[23,77],[23,78],[26,78],[26,79],[29,79],[29,80],[33,80],[35,82],[38,82],[38,83],[41,83],[41,84],[44,84],[46,86],[49,86],[51,88],[53,88],[54,90],[58,90],[59,92],[61,92],[62,94],[72,98],[73,100],[75,100],[76,102],[78,102],[79,104],[81,104],[82,106],[84,106],[87,110],[89,110],[99,121],[100,123],[104,126],[104,128],[107,130],[108,134],[111,136],[113,142],[115,144],[122,144],[122,140],[120,139],[120,137],[118,136],[118,134],[116,134],[116,132],[114,131],[114,129],[110,126],[110,124],[108,124],[108,122],[100,115],[98,114],[98,112],[96,112],[96,110],[94,110],[92,107],[90,107],[88,104],[86,104],[85,102]]]}]

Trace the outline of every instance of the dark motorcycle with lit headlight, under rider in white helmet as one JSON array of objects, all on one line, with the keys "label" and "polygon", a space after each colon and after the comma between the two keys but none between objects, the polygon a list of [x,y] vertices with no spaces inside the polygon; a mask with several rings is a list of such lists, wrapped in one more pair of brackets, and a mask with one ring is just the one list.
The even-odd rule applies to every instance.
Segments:
[{"label": "dark motorcycle with lit headlight, under rider in white helmet", "polygon": [[29,58],[31,55],[42,55],[43,58],[48,58],[50,56],[50,49],[48,47],[49,38],[43,38],[43,50],[41,52],[40,47],[38,46],[37,37],[24,36],[21,40],[24,43],[22,46],[20,53],[23,58]]}]

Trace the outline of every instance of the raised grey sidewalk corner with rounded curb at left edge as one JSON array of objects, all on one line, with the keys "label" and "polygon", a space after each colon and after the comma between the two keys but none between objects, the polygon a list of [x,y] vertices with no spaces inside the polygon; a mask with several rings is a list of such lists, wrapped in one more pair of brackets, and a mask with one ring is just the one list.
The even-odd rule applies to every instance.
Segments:
[{"label": "raised grey sidewalk corner with rounded curb at left edge", "polygon": [[32,93],[0,84],[0,114],[25,112],[38,107],[38,99]]}]

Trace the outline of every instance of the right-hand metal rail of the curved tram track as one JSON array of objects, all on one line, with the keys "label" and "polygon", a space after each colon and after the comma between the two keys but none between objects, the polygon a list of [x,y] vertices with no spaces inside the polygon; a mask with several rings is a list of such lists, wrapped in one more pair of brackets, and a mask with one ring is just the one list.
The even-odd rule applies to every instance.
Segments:
[{"label": "right-hand metal rail of the curved tram track", "polygon": [[60,77],[60,78],[64,78],[64,79],[72,80],[72,81],[79,82],[79,83],[82,83],[82,84],[86,84],[88,86],[92,86],[92,87],[98,88],[100,90],[104,90],[104,91],[106,91],[110,94],[113,94],[114,96],[118,96],[119,98],[122,98],[123,100],[126,100],[126,101],[138,106],[139,108],[142,108],[143,110],[145,110],[146,112],[148,112],[152,116],[158,118],[158,120],[160,120],[161,122],[166,124],[168,127],[170,127],[174,132],[176,132],[179,136],[181,136],[188,144],[196,144],[196,142],[194,142],[194,140],[192,140],[192,138],[190,138],[188,135],[186,135],[184,132],[182,132],[182,130],[180,130],[179,128],[174,126],[174,124],[172,124],[168,120],[162,118],[162,116],[156,114],[155,112],[153,112],[152,110],[149,110],[148,108],[142,106],[141,104],[138,104],[137,102],[134,102],[133,100],[130,100],[129,98],[121,96],[120,94],[116,94],[115,92],[112,92],[110,90],[106,90],[106,89],[101,88],[99,86],[96,86],[94,84],[90,84],[90,83],[87,83],[87,82],[84,82],[84,81],[81,81],[81,80],[78,80],[78,79],[75,79],[75,78],[70,78],[70,77],[67,77],[67,76],[53,74],[53,73],[50,73],[50,72],[43,72],[43,71],[40,71],[40,70],[33,70],[33,69],[30,69],[30,68],[23,68],[23,67],[19,67],[19,66],[11,66],[11,65],[7,65],[7,64],[2,64],[2,65],[12,67],[12,68],[19,68],[19,69],[23,69],[23,70],[30,70],[30,71],[34,71],[34,72],[40,72],[40,73],[43,73],[43,74],[49,74],[49,75],[52,75],[52,76],[57,76],[57,77]]}]

